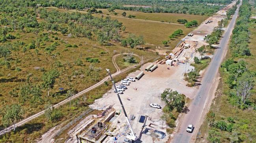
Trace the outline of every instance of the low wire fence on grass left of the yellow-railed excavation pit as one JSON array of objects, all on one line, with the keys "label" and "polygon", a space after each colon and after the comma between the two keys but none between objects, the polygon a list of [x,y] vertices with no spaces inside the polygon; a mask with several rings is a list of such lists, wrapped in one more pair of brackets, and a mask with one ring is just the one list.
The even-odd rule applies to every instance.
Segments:
[{"label": "low wire fence on grass left of the yellow-railed excavation pit", "polygon": [[60,130],[58,130],[58,132],[55,133],[54,138],[56,138],[57,136],[59,136],[60,134],[62,134],[62,132],[64,130],[69,129],[69,127],[73,126],[75,123],[77,123],[78,121],[80,121],[84,116],[88,115],[90,112],[92,112],[94,109],[90,108],[88,110],[86,110],[85,112],[83,112],[82,114],[80,114],[80,116],[78,116],[77,118],[73,119],[72,121],[70,121],[67,125],[65,125],[64,127],[62,127]]}]

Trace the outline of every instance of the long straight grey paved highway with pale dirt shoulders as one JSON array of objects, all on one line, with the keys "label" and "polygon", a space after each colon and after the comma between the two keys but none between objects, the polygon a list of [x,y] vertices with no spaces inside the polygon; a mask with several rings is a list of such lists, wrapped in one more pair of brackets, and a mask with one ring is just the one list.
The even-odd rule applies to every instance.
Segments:
[{"label": "long straight grey paved highway with pale dirt shoulders", "polygon": [[[215,92],[214,84],[216,81],[216,78],[218,77],[218,70],[220,67],[220,64],[223,60],[223,58],[226,55],[226,51],[228,49],[228,41],[230,39],[230,36],[232,34],[232,30],[235,25],[235,20],[238,15],[238,9],[235,11],[235,14],[230,21],[230,24],[228,25],[228,28],[226,32],[223,35],[223,38],[220,40],[219,49],[215,51],[215,54],[211,60],[211,63],[209,64],[209,67],[207,68],[204,77],[201,82],[200,89],[198,93],[196,94],[195,98],[192,100],[190,106],[189,106],[189,113],[185,114],[183,116],[183,119],[181,120],[181,124],[178,126],[178,131],[174,135],[174,138],[172,139],[173,143],[189,143],[194,142],[195,137],[201,124],[202,119],[204,118],[204,113],[207,112],[207,105],[211,104],[211,92]],[[214,89],[214,91],[213,91]],[[187,126],[189,124],[193,124],[195,129],[193,133],[186,132]]]}]

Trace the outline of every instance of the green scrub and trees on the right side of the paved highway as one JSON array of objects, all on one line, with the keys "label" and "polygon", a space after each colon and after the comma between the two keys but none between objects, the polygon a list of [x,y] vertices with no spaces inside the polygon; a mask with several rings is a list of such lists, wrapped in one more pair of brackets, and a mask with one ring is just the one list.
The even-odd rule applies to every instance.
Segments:
[{"label": "green scrub and trees on the right side of the paved highway", "polygon": [[[250,5],[251,4],[251,5]],[[243,0],[239,9],[230,49],[220,68],[217,97],[207,114],[201,132],[210,143],[255,142],[255,20],[253,1]],[[203,140],[198,139],[198,142]]]}]

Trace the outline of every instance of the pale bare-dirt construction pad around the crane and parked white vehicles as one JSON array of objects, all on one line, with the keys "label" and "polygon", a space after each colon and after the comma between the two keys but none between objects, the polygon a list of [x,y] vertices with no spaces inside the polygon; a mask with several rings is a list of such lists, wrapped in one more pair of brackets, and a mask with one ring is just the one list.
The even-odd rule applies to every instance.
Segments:
[{"label": "pale bare-dirt construction pad around the crane and parked white vehicles", "polygon": [[[143,68],[147,67],[151,63],[147,63]],[[155,63],[153,63],[155,64]],[[157,130],[166,133],[166,128],[162,127],[162,122],[160,121],[160,116],[163,114],[162,109],[155,109],[149,107],[150,103],[157,103],[164,107],[164,102],[161,101],[161,93],[164,89],[170,88],[179,93],[185,94],[189,98],[194,98],[194,93],[197,91],[196,87],[187,87],[187,82],[183,80],[185,69],[193,69],[191,66],[186,66],[185,64],[179,64],[178,67],[170,67],[170,70],[167,69],[169,65],[160,65],[158,64],[157,69],[153,72],[144,71],[144,75],[135,82],[131,81],[131,84],[127,86],[128,89],[124,91],[123,94],[120,94],[121,100],[127,112],[127,115],[135,116],[135,120],[132,121],[133,130],[136,133],[136,136],[140,136],[140,140],[146,143],[163,143],[167,141],[168,137],[161,139],[161,136],[157,133],[142,134],[142,131],[145,131],[146,128],[151,130]],[[135,76],[141,71],[136,71],[129,74],[129,77],[135,78]],[[119,85],[117,83],[116,85]],[[110,105],[113,105],[113,108],[116,110],[121,110],[120,103],[118,101],[117,95],[111,89],[107,92],[103,98],[95,100],[93,105],[90,105],[93,109],[105,109]],[[129,99],[129,100],[127,100]],[[139,116],[146,116],[144,123],[138,122]],[[151,118],[151,120],[149,120]],[[124,114],[121,114],[115,119],[121,123],[117,123],[121,126],[126,123]],[[114,121],[114,123],[116,123]],[[151,123],[152,127],[148,127]],[[166,125],[163,125],[166,127]],[[120,134],[125,134],[128,130],[120,129]],[[166,134],[166,136],[168,136]],[[123,141],[125,136],[120,136],[118,141]],[[111,139],[105,139],[105,141],[111,141]]]}]

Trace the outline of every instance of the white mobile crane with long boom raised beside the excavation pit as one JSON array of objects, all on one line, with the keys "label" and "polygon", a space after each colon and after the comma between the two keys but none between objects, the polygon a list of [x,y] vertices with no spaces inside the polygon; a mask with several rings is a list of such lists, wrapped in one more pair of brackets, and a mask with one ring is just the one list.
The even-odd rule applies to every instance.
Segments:
[{"label": "white mobile crane with long boom raised beside the excavation pit", "polygon": [[124,113],[124,115],[125,115],[125,119],[126,119],[126,121],[127,121],[127,124],[128,124],[128,126],[129,126],[129,129],[131,130],[131,132],[128,132],[128,133],[127,133],[126,138],[127,138],[127,139],[130,139],[130,140],[132,140],[132,141],[136,141],[136,140],[138,139],[138,137],[135,136],[135,134],[134,134],[134,132],[133,132],[133,128],[132,128],[131,123],[130,123],[128,117],[127,117],[127,114],[126,114],[125,109],[124,109],[124,107],[123,107],[123,103],[122,103],[122,101],[121,101],[121,98],[120,98],[120,96],[119,96],[119,93],[117,92],[116,85],[115,85],[115,81],[113,80],[113,78],[112,78],[112,76],[111,76],[111,74],[110,74],[109,69],[106,69],[106,70],[107,70],[107,72],[108,72],[108,74],[109,74],[109,76],[110,76],[110,78],[111,78],[111,80],[112,80],[112,83],[113,83],[114,88],[115,88],[114,90],[116,91],[118,100],[119,100],[119,102],[120,102],[120,104],[121,104],[121,107],[122,107],[122,109],[123,109],[123,113]]}]

